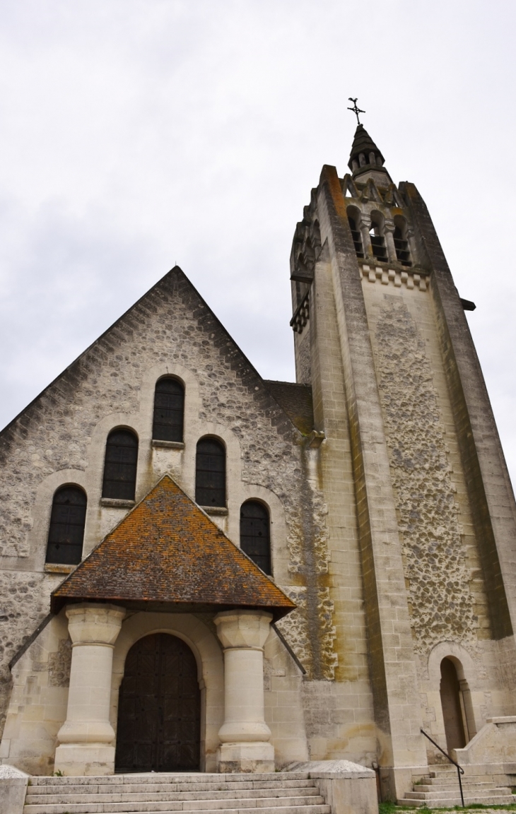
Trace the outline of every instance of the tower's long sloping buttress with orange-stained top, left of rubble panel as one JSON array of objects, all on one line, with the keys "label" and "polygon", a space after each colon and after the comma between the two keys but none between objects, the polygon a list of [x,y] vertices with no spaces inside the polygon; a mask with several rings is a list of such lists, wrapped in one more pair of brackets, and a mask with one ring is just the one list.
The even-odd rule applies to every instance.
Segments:
[{"label": "tower's long sloping buttress with orange-stained top, left of rubble panel", "polygon": [[335,168],[321,174],[318,214],[322,244],[328,240],[343,365],[379,762],[385,767],[387,794],[397,794],[412,771],[403,767],[424,764],[426,755],[383,418],[361,279]]}]

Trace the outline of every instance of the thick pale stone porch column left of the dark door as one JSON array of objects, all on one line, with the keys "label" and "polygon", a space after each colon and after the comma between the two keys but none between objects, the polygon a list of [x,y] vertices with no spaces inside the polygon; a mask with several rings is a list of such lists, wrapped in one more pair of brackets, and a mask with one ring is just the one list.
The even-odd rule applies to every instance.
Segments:
[{"label": "thick pale stone porch column left of the dark door", "polygon": [[115,771],[115,732],[109,722],[113,646],[124,608],[69,605],[72,668],[66,721],[59,729],[55,770],[71,777]]}]

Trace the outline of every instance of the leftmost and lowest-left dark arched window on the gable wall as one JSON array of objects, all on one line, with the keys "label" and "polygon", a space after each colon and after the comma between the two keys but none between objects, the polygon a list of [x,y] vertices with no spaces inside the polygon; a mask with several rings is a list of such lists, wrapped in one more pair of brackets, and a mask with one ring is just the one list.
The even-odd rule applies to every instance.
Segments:
[{"label": "leftmost and lowest-left dark arched window on the gable wall", "polygon": [[86,519],[86,496],[78,486],[55,492],[46,544],[46,562],[77,565],[81,562]]}]

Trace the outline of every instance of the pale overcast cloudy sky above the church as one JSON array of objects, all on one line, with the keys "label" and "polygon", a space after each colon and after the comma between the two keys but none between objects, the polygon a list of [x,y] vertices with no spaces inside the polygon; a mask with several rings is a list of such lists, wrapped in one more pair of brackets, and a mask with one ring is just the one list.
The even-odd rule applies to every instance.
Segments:
[{"label": "pale overcast cloudy sky above the church", "polygon": [[358,96],[430,208],[516,478],[516,4],[0,0],[0,425],[175,262],[294,379],[289,256]]}]

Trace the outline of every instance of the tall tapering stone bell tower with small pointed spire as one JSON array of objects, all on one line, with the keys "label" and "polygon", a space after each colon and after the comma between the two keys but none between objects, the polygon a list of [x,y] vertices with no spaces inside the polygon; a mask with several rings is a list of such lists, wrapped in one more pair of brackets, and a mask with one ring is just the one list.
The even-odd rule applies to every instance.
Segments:
[{"label": "tall tapering stone bell tower with small pointed spire", "polygon": [[362,125],[348,166],[343,178],[323,167],[296,227],[291,326],[326,436],[313,470],[328,510],[335,705],[358,724],[350,709],[364,723],[372,704],[383,788],[399,799],[439,759],[421,729],[460,749],[514,714],[515,506],[471,304],[426,205],[392,182]]}]

